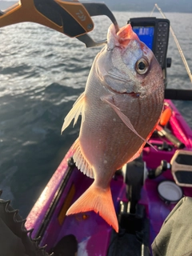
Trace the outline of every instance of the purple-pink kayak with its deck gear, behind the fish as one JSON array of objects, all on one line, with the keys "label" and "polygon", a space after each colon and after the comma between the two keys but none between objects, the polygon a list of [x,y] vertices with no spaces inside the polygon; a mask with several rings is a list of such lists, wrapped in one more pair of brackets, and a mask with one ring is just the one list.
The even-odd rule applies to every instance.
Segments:
[{"label": "purple-pink kayak with its deck gear, behind the fish", "polygon": [[[129,241],[136,236],[137,240],[140,239],[137,247],[150,247],[183,194],[192,196],[191,184],[178,186],[175,183],[181,182],[182,178],[185,180],[185,171],[178,181],[170,168],[171,159],[178,151],[190,154],[192,131],[173,102],[165,102],[172,110],[166,125],[172,136],[170,140],[169,136],[166,138],[164,134],[159,136],[154,132],[150,143],[157,150],[146,146],[142,157],[117,171],[111,181],[119,233],[116,234],[92,211],[66,216],[66,210],[93,182],[74,165],[70,149],[27,217],[26,228],[34,228],[33,238],[41,236],[40,246],[47,244],[47,251],[51,252],[62,238],[73,234],[78,242],[78,255],[113,255],[111,251],[117,246],[120,236]],[[168,191],[167,198],[163,195],[165,190]]]}]

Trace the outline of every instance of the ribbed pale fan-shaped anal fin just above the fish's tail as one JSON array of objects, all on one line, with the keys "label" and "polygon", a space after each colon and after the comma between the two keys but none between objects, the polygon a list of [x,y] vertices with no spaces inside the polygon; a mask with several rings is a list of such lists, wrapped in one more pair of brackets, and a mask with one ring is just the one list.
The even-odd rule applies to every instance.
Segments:
[{"label": "ribbed pale fan-shaped anal fin just above the fish's tail", "polygon": [[91,168],[89,162],[87,162],[86,157],[82,153],[79,139],[74,142],[73,146],[74,150],[74,162],[79,170],[82,171],[83,174],[86,174],[86,176],[90,178],[94,178],[94,170]]}]

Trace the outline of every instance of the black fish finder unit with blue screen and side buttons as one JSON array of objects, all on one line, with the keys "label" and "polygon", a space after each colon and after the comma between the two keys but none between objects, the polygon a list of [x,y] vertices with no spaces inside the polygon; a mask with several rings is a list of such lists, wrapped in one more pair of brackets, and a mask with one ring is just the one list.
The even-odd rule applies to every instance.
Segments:
[{"label": "black fish finder unit with blue screen and side buttons", "polygon": [[130,18],[138,38],[154,52],[162,70],[166,70],[166,52],[169,42],[170,21],[166,18]]}]

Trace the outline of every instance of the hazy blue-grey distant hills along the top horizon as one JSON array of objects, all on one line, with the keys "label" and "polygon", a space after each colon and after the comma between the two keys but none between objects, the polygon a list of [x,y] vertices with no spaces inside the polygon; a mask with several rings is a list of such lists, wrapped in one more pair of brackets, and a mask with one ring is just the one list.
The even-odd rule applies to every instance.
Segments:
[{"label": "hazy blue-grey distant hills along the top horizon", "polygon": [[[0,0],[0,10],[5,10],[16,2]],[[192,13],[191,0],[92,0],[92,2],[105,2],[111,10],[149,12],[153,9],[154,4],[157,3],[163,12]]]}]

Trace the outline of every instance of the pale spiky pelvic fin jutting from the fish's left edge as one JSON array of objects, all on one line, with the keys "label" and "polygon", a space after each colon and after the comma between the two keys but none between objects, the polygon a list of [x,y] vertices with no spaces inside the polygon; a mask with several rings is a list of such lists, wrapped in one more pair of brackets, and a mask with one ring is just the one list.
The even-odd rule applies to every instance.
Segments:
[{"label": "pale spiky pelvic fin jutting from the fish's left edge", "polygon": [[70,110],[70,112],[66,115],[66,118],[64,119],[63,125],[62,125],[62,132],[66,129],[67,126],[70,125],[70,122],[74,118],[74,125],[78,121],[78,116],[82,114],[82,122],[84,121],[84,102],[85,102],[85,92],[83,92],[77,99],[76,102],[74,102],[73,108]]}]

